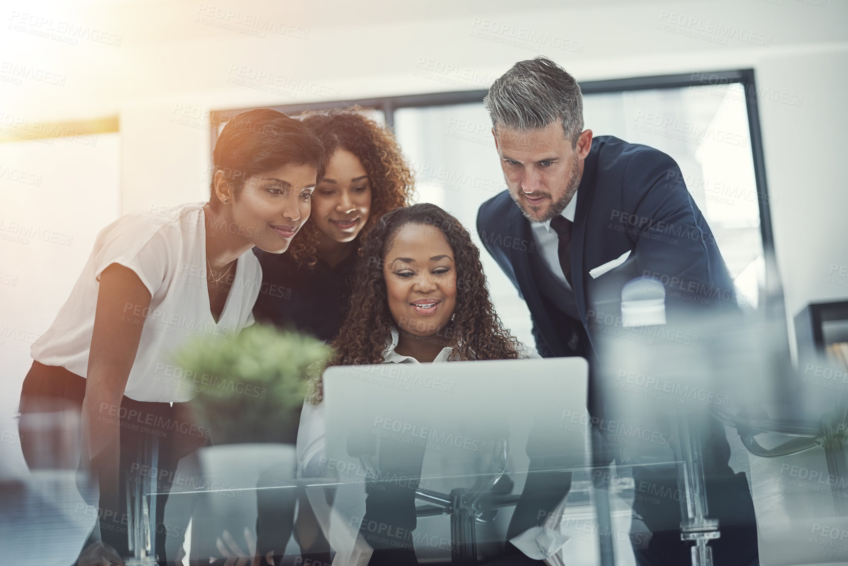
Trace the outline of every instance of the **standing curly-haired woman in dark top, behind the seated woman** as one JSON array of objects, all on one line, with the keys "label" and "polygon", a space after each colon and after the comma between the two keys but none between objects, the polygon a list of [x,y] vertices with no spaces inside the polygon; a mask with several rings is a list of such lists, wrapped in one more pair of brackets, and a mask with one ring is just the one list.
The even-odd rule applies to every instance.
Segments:
[{"label": "standing curly-haired woman in dark top, behind the seated woman", "polygon": [[360,243],[383,214],[410,204],[414,184],[392,132],[362,109],[302,121],[324,146],[326,172],[288,254],[255,250],[263,284],[254,315],[329,342],[342,325]]}]

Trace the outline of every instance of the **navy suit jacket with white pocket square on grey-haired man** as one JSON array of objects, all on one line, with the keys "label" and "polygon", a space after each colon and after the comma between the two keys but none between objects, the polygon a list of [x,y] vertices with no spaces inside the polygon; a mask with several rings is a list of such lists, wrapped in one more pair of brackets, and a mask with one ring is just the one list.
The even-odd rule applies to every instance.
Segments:
[{"label": "navy suit jacket with white pocket square on grey-haired man", "polygon": [[[589,357],[569,346],[577,333],[597,345],[600,331],[621,328],[621,293],[634,278],[656,277],[666,290],[667,322],[693,310],[737,310],[734,283],[704,216],[667,154],[617,137],[592,140],[577,190],[572,282],[579,320],[566,316],[533,280],[541,262],[530,222],[507,191],[480,206],[477,232],[518,289],[533,318],[542,356]],[[630,251],[598,277],[594,267]],[[583,338],[585,341],[585,338]]]}]

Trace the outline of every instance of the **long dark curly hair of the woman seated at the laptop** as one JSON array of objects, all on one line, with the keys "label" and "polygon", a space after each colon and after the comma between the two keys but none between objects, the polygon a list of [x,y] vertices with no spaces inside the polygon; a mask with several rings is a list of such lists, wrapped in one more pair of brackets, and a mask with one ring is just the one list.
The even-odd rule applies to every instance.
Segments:
[{"label": "long dark curly hair of the woman seated at the laptop", "polygon": [[[327,366],[382,363],[383,350],[392,328],[397,328],[388,309],[383,262],[393,239],[407,224],[437,227],[454,252],[456,306],[449,326],[440,334],[453,348],[451,361],[510,360],[519,357],[520,346],[504,328],[489,299],[480,250],[465,227],[436,205],[422,203],[388,212],[365,238],[356,264],[350,311],[332,342],[334,354]],[[310,371],[310,403],[323,398],[320,379],[323,367]]]}]

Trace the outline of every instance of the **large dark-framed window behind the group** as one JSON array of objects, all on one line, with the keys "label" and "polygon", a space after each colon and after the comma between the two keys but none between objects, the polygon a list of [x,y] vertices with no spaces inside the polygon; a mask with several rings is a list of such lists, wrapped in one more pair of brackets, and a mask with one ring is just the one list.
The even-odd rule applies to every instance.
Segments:
[{"label": "large dark-framed window behind the group", "polygon": [[[767,287],[765,281],[767,272],[777,270],[767,269],[773,240],[753,71],[592,81],[581,88],[585,127],[595,136],[644,143],[678,162],[740,302],[757,308],[771,299],[763,289],[780,286]],[[418,201],[448,210],[480,245],[477,209],[505,189],[483,109],[485,94],[441,92],[276,109],[290,115],[352,104],[374,109],[393,127],[416,172]],[[481,255],[499,316],[519,339],[533,344],[527,306],[488,253]]]}]

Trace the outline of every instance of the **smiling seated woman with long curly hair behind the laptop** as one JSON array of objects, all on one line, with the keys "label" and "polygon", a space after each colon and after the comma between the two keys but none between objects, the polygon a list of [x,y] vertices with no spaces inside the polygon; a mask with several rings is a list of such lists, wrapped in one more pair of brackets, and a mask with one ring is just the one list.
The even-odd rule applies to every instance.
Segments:
[{"label": "smiling seated woman with long curly hair behind the laptop", "polygon": [[[430,204],[393,210],[377,221],[357,264],[350,311],[332,345],[331,366],[538,357],[495,314],[471,235],[454,216]],[[315,376],[298,432],[298,472],[307,477],[327,475],[321,468],[326,463],[322,399],[321,379]],[[355,547],[349,541],[349,548],[337,551],[351,552],[354,561],[359,552],[370,553],[370,564],[415,564],[415,490],[424,449],[383,441],[380,475],[404,481],[366,483],[361,524],[391,525],[393,532],[404,533],[403,540],[388,545],[363,529]]]}]

